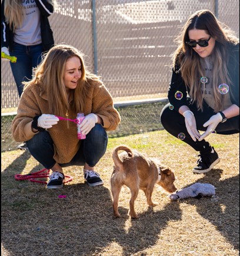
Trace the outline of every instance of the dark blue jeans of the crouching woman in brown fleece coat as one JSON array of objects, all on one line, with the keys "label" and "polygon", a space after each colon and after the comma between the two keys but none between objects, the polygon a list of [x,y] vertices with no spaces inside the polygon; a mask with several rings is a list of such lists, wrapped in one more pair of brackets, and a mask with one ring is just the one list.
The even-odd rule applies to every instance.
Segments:
[{"label": "dark blue jeans of the crouching woman in brown fleece coat", "polygon": [[[31,155],[45,168],[51,169],[56,161],[54,159],[54,142],[48,131],[39,132],[32,139],[26,141]],[[100,124],[96,124],[94,128],[86,135],[86,139],[82,139],[78,152],[72,160],[65,164],[59,164],[61,167],[69,167],[72,165],[85,165],[94,167],[106,152],[108,145],[108,135]]]}]

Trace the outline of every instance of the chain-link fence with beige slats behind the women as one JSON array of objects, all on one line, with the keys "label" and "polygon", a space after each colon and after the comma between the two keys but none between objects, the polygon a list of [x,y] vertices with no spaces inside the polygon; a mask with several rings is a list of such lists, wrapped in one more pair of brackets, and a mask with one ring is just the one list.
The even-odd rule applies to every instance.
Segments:
[{"label": "chain-link fence with beige slats behind the women", "polygon": [[[193,12],[211,10],[239,36],[237,0],[58,0],[58,3],[61,8],[49,17],[55,43],[65,42],[81,49],[86,64],[101,76],[115,102],[141,95],[166,97],[171,54],[176,49],[174,39]],[[2,61],[1,75],[2,110],[15,110],[19,99],[8,62]],[[122,112],[122,123],[135,113],[137,123],[146,125],[143,112],[137,113],[136,107],[127,109],[129,114],[126,109]],[[152,111],[156,108],[152,107]],[[3,121],[6,123],[2,124],[2,134],[10,136],[11,117],[2,117]],[[125,125],[120,128],[120,134],[126,134],[123,128],[128,133],[139,131]],[[119,130],[116,134],[119,135]],[[6,142],[6,138],[3,140]],[[11,148],[9,144],[4,148]]]}]

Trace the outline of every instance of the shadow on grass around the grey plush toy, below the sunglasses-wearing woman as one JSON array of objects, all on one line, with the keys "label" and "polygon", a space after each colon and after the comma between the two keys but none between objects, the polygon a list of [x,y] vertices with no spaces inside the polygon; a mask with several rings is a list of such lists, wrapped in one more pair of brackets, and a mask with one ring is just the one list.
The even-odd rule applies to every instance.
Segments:
[{"label": "shadow on grass around the grey plush toy, below the sunglasses-wearing woman", "polygon": [[[213,201],[211,208],[201,204],[201,199],[186,198],[179,200],[196,206],[196,211],[203,218],[215,225],[216,229],[232,244],[235,250],[239,250],[239,175],[221,180],[222,169],[214,169],[208,172],[196,182],[209,183],[214,185],[216,201]],[[189,184],[189,187],[192,184]]]}]

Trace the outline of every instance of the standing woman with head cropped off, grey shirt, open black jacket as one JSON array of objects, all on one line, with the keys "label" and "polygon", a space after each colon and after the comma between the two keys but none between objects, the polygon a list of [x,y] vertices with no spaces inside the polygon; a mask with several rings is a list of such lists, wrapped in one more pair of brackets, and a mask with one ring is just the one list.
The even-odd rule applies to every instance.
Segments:
[{"label": "standing woman with head cropped off, grey shirt, open black jacket", "polygon": [[[32,79],[32,69],[42,60],[42,52],[54,46],[48,16],[56,7],[55,0],[2,0],[1,51],[16,56],[10,62],[21,97],[22,82]],[[26,149],[25,143],[18,146]]]}]

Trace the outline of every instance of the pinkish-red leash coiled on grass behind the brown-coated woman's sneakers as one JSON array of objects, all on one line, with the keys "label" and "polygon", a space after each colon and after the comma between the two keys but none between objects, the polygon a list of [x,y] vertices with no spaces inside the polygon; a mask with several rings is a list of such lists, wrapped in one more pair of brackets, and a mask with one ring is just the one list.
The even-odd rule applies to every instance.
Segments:
[{"label": "pinkish-red leash coiled on grass behind the brown-coated woman's sneakers", "polygon": [[[40,171],[32,172],[32,173],[29,173],[29,174],[15,174],[14,178],[17,181],[24,181],[25,179],[29,179],[29,181],[32,181],[32,182],[38,182],[38,183],[47,184],[48,182],[46,182],[46,181],[39,181],[37,178],[47,178],[47,177],[50,176],[49,172],[50,172],[49,169],[44,168],[44,169],[41,169]],[[69,179],[67,181],[64,181],[64,183],[72,181],[72,179],[73,179],[69,175],[65,175],[65,177],[69,178]]]}]

